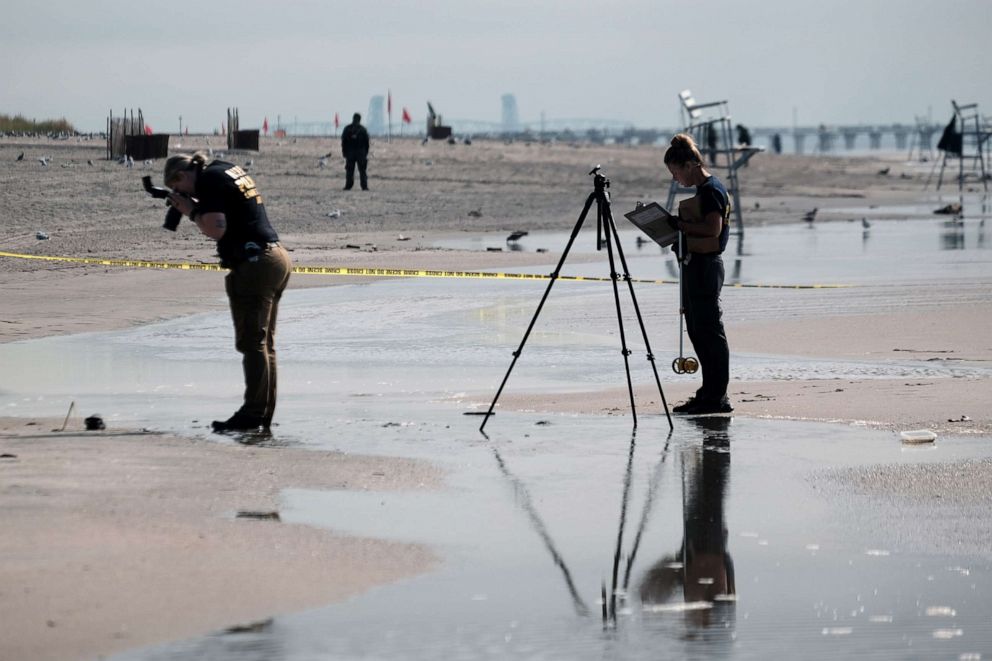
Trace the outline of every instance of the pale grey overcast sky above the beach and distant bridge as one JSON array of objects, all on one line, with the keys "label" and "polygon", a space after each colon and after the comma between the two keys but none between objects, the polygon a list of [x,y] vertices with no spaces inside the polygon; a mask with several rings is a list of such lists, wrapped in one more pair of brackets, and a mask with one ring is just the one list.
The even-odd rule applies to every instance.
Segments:
[{"label": "pale grey overcast sky above the beach and distant bridge", "polygon": [[943,123],[992,114],[992,0],[4,0],[0,113],[102,130],[342,120],[392,91],[394,122],[679,123],[678,92],[752,126]]}]

